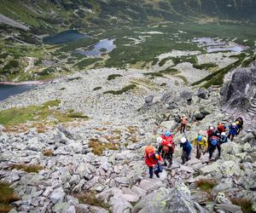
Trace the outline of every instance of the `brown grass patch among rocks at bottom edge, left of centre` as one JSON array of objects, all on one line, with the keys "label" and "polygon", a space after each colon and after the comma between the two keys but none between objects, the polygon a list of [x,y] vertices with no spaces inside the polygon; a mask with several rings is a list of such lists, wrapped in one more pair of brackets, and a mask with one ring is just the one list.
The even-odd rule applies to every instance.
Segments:
[{"label": "brown grass patch among rocks at bottom edge, left of centre", "polygon": [[110,205],[104,204],[101,200],[96,199],[96,192],[74,194],[74,197],[79,199],[79,204],[90,204],[100,206],[105,210],[110,209]]}]

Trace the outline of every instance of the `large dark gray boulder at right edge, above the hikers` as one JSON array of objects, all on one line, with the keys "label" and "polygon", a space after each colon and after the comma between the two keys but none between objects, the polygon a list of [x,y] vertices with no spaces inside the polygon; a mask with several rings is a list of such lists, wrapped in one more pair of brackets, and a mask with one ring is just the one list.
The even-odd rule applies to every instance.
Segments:
[{"label": "large dark gray boulder at right edge, above the hikers", "polygon": [[220,91],[221,103],[226,107],[247,110],[256,95],[256,69],[238,68]]}]

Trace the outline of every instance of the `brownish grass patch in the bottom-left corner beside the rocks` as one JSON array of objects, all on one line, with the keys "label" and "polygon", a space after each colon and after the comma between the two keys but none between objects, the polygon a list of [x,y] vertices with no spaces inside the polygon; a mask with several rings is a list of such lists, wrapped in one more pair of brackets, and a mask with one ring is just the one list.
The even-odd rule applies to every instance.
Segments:
[{"label": "brownish grass patch in the bottom-left corner beside the rocks", "polygon": [[19,200],[19,198],[15,195],[14,190],[10,187],[10,184],[0,181],[0,212],[9,212],[9,210],[13,208],[10,204],[17,200]]}]

